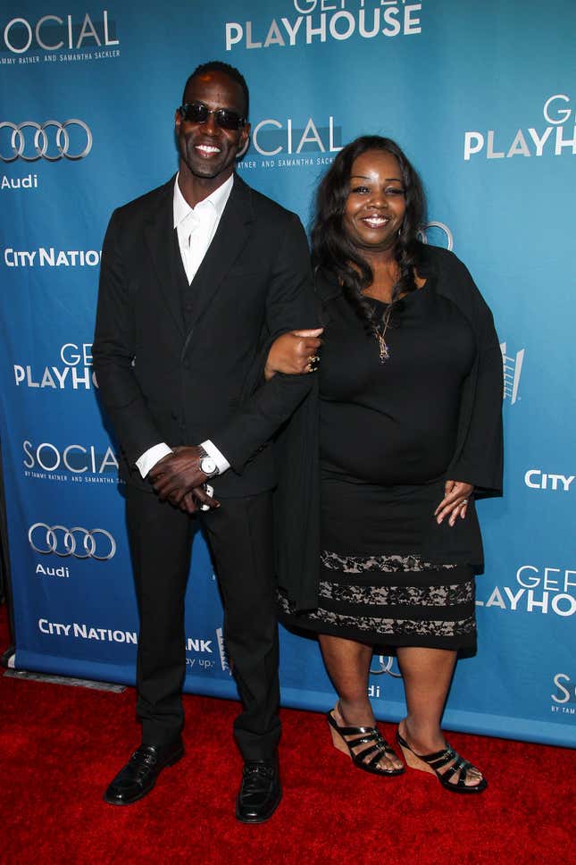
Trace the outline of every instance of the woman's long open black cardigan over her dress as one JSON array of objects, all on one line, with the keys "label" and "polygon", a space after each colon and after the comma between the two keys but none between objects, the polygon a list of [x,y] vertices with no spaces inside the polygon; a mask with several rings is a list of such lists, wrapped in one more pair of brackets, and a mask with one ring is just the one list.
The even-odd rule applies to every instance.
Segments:
[{"label": "woman's long open black cardigan over her dress", "polygon": [[[472,276],[451,252],[422,245],[422,275],[428,274],[438,294],[450,299],[465,315],[476,338],[476,359],[463,383],[455,452],[446,477],[472,483],[463,525],[452,533],[448,521],[434,525],[422,542],[422,558],[443,564],[483,567],[480,525],[474,497],[502,494],[502,354],[492,314]],[[320,320],[330,322],[330,299],[341,293],[331,274],[316,280]],[[314,376],[315,378],[315,376]],[[318,442],[318,382],[280,433],[279,485],[275,492],[275,546],[279,585],[295,610],[317,607],[320,561],[320,459]]]}]

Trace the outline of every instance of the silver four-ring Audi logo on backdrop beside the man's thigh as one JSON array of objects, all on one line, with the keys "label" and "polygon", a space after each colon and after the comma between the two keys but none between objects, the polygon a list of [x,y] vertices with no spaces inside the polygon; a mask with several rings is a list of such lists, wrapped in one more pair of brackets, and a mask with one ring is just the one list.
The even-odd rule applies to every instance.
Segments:
[{"label": "silver four-ring Audi logo on backdrop beside the man's thigh", "polygon": [[47,555],[73,556],[74,558],[97,558],[104,562],[116,553],[116,542],[105,529],[88,529],[75,525],[67,529],[65,525],[30,525],[28,540],[32,550]]}]

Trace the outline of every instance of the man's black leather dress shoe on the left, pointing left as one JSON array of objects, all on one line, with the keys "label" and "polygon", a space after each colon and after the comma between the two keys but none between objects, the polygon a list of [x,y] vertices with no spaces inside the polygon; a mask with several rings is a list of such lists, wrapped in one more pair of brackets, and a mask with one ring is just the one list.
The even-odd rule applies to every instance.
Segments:
[{"label": "man's black leather dress shoe on the left, pointing left", "polygon": [[180,739],[169,745],[140,745],[104,793],[104,802],[131,805],[150,793],[163,768],[184,756]]}]

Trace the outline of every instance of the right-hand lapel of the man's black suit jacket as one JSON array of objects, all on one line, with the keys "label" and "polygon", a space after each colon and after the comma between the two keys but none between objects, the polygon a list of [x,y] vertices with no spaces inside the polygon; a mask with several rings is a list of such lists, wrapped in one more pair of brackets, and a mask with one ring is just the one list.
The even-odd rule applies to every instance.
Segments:
[{"label": "right-hand lapel of the man's black suit jacket", "polygon": [[192,289],[196,292],[193,326],[205,314],[221,289],[226,274],[246,245],[253,223],[250,188],[235,175],[218,229],[192,282]]}]

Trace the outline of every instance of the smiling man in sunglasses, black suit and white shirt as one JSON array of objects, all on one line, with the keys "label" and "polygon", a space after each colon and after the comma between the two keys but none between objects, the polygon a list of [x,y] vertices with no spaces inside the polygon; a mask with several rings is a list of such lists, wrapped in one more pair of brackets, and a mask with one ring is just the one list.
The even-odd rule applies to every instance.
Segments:
[{"label": "smiling man in sunglasses, black suit and white shirt", "polygon": [[[136,802],[183,755],[184,594],[202,524],[243,707],[236,813],[257,823],[281,797],[270,440],[309,382],[266,381],[264,362],[272,340],[315,315],[301,223],[235,174],[247,116],[238,70],[193,72],[176,111],[179,173],[108,226],[93,357],[121,445],[140,615],[142,742],[104,799]],[[305,333],[303,352],[319,333]]]}]

